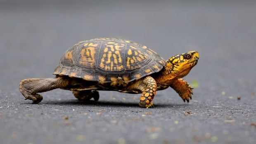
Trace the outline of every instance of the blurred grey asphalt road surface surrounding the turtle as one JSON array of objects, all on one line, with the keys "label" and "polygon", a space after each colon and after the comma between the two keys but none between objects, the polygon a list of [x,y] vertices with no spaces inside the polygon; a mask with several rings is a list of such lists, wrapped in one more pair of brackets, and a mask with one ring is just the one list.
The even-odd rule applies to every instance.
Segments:
[{"label": "blurred grey asphalt road surface surrounding the turtle", "polygon": [[[255,144],[255,7],[253,1],[0,0],[0,143]],[[43,93],[39,104],[24,100],[20,80],[54,77],[69,47],[97,37],[133,40],[165,59],[199,51],[184,78],[196,87],[191,102],[171,89],[156,93],[154,109],[140,108],[140,95],[119,92],[100,92],[98,102],[87,103],[66,90]]]}]

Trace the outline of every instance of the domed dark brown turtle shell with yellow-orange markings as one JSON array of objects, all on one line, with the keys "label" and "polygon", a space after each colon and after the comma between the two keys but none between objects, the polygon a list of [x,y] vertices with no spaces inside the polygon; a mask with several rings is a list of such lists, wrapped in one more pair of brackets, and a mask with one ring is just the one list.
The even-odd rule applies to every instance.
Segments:
[{"label": "domed dark brown turtle shell with yellow-orange markings", "polygon": [[95,38],[69,48],[53,74],[103,83],[129,83],[159,72],[164,65],[164,59],[144,45],[118,38]]}]

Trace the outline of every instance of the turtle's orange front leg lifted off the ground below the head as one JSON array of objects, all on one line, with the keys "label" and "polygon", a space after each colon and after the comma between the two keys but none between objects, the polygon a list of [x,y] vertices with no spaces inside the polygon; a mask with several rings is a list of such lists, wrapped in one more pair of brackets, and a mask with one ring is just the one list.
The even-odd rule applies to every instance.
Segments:
[{"label": "turtle's orange front leg lifted off the ground below the head", "polygon": [[170,85],[173,90],[175,90],[179,96],[183,99],[185,102],[190,102],[190,99],[192,99],[192,87],[182,78],[179,78],[177,80],[174,80],[173,83]]}]

